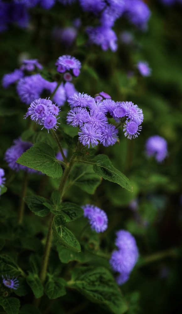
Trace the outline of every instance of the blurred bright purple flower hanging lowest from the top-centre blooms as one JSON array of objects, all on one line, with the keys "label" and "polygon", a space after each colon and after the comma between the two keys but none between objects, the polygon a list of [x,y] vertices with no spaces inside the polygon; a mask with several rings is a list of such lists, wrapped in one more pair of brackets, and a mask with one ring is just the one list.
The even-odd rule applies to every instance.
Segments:
[{"label": "blurred bright purple flower hanging lowest from the top-centre blooms", "polygon": [[105,26],[97,26],[95,28],[88,26],[86,31],[89,36],[89,41],[95,45],[101,46],[102,50],[106,51],[109,48],[112,51],[117,50],[117,36],[111,28]]}]

